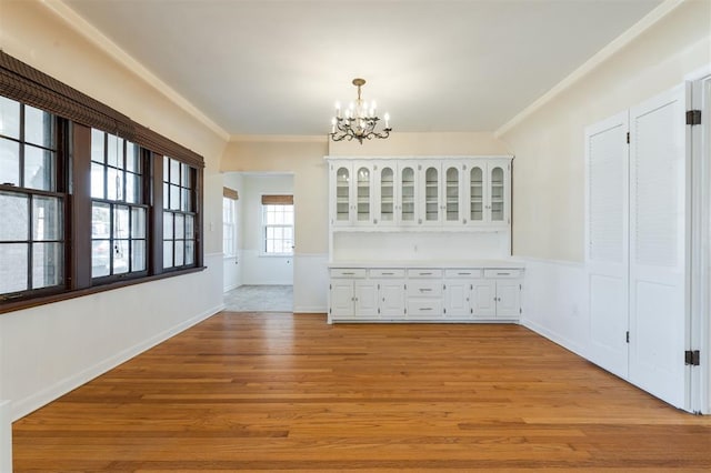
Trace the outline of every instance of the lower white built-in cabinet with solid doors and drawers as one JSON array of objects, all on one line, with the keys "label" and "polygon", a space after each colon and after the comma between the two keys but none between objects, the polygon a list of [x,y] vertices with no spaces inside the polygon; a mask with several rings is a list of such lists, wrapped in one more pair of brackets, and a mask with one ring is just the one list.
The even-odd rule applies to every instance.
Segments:
[{"label": "lower white built-in cabinet with solid doors and drawers", "polygon": [[514,322],[521,269],[330,269],[329,321]]}]

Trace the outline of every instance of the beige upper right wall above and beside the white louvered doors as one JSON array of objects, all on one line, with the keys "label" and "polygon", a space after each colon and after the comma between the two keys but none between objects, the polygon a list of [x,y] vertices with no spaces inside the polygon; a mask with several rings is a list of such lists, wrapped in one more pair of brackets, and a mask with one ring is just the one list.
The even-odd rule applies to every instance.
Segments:
[{"label": "beige upper right wall above and beside the white louvered doors", "polygon": [[584,129],[711,64],[711,2],[692,0],[502,134],[515,153],[513,253],[582,261]]}]

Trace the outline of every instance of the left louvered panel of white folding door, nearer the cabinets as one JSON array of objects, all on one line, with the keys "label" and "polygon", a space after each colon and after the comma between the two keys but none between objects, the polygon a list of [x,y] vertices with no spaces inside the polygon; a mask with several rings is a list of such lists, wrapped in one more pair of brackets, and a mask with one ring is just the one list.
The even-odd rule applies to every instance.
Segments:
[{"label": "left louvered panel of white folding door, nearer the cabinets", "polygon": [[628,113],[585,131],[590,360],[628,376]]}]

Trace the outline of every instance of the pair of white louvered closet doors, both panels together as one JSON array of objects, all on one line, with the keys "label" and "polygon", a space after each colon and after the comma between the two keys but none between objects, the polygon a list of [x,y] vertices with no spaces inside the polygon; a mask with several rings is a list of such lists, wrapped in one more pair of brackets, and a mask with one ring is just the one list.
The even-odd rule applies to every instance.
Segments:
[{"label": "pair of white louvered closet doors, both panels together", "polygon": [[678,87],[585,132],[590,360],[681,409],[690,386],[684,113]]}]

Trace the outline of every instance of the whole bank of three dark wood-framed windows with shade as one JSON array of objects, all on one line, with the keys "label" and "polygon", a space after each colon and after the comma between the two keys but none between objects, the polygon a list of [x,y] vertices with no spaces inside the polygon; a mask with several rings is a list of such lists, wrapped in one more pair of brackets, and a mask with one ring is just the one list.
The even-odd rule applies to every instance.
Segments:
[{"label": "whole bank of three dark wood-framed windows with shade", "polygon": [[201,270],[203,167],[0,51],[0,313]]}]

